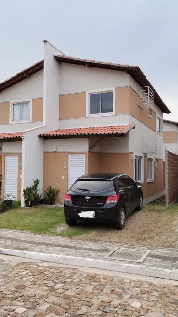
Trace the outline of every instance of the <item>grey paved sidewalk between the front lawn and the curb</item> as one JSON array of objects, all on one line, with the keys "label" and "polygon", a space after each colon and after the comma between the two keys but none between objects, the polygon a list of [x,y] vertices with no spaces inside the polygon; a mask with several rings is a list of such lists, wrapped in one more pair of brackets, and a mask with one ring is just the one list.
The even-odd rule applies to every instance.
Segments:
[{"label": "grey paved sidewalk between the front lawn and the curb", "polygon": [[[0,229],[0,247],[14,250],[26,250],[32,252],[42,252],[57,255],[69,255],[91,259],[100,259],[116,263],[139,264],[133,256],[132,261],[118,261],[113,250],[117,248],[147,251],[147,256],[140,263],[146,267],[157,267],[166,269],[178,269],[178,249],[155,248],[129,244],[113,244],[106,242],[89,242],[81,240],[71,240],[65,237],[37,235],[28,232]],[[124,256],[127,257],[127,250]],[[141,253],[141,252],[140,252]],[[108,257],[109,256],[109,257]],[[138,256],[139,257],[139,256]],[[117,258],[117,256],[116,256]]]}]

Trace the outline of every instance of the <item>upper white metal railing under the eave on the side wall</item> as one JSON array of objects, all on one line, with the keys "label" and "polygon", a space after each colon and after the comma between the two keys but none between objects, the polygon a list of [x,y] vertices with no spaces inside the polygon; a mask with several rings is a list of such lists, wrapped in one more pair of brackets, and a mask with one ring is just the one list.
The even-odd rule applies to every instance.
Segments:
[{"label": "upper white metal railing under the eave on the side wall", "polygon": [[138,87],[138,105],[144,108],[153,108],[154,105],[154,92],[149,86]]}]

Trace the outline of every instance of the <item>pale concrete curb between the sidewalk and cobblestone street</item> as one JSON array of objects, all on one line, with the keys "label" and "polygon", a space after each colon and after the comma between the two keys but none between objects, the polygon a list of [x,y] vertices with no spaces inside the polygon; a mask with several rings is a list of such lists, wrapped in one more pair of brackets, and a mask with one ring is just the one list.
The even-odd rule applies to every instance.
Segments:
[{"label": "pale concrete curb between the sidewalk and cobblestone street", "polygon": [[46,254],[39,252],[20,251],[0,248],[0,254],[18,256],[21,258],[39,260],[44,262],[75,265],[79,267],[90,267],[109,271],[116,271],[129,274],[146,275],[150,277],[157,277],[168,280],[178,281],[178,270],[169,270],[165,268],[146,267],[143,265],[130,263],[116,263],[106,260],[98,260],[91,258],[81,258],[67,255]]}]

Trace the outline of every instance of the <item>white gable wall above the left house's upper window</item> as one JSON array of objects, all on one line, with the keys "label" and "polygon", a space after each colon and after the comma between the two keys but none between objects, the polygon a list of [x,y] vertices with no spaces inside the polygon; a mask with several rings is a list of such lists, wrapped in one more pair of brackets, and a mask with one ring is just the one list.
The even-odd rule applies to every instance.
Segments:
[{"label": "white gable wall above the left house's upper window", "polygon": [[2,91],[0,102],[41,97],[43,97],[43,70]]}]

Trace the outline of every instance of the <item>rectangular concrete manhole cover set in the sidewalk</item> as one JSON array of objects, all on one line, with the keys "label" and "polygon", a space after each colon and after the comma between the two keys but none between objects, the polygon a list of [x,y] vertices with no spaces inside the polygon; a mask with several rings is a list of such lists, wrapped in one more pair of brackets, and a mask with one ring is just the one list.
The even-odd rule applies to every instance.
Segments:
[{"label": "rectangular concrete manhole cover set in the sidewalk", "polygon": [[118,261],[143,263],[151,250],[115,248],[107,254],[106,258]]}]

